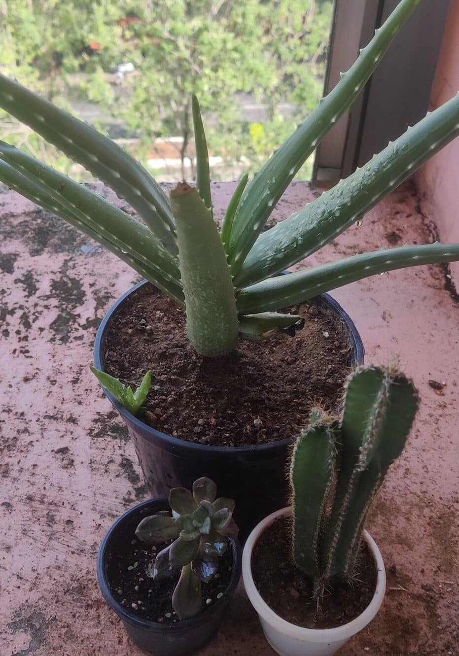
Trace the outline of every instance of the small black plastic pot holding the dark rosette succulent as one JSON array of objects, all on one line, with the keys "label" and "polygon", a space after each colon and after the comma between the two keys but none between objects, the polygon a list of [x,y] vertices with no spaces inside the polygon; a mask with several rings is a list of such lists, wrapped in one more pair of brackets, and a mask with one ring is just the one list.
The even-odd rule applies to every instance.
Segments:
[{"label": "small black plastic pot holding the dark rosette succulent", "polygon": [[131,543],[131,537],[135,534],[137,524],[142,518],[168,508],[167,499],[160,497],[143,501],[121,515],[108,529],[100,544],[97,556],[97,579],[102,596],[120,617],[124,628],[137,647],[156,656],[186,656],[204,647],[215,635],[223,620],[225,608],[236,590],[240,577],[241,548],[238,541],[230,540],[233,558],[232,576],[223,596],[204,613],[182,622],[164,625],[141,619],[121,606],[108,586],[111,554],[114,552],[119,554],[120,551],[122,553],[123,548]]}]

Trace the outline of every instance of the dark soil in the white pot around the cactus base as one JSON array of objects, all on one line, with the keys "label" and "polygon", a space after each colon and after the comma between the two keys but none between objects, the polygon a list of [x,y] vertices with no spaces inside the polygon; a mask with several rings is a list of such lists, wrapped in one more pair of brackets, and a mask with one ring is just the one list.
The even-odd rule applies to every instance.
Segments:
[{"label": "dark soil in the white pot around the cactus base", "polygon": [[317,601],[311,581],[290,555],[291,535],[291,520],[277,520],[253,549],[253,581],[265,602],[286,621],[305,628],[334,628],[358,617],[373,598],[378,576],[366,544],[362,543],[352,581],[336,584]]}]

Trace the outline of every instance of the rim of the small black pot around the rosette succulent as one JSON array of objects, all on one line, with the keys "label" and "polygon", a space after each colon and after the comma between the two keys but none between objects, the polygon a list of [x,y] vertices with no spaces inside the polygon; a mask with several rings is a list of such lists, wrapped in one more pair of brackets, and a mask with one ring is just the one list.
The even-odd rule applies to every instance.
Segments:
[{"label": "rim of the small black pot around the rosette succulent", "polygon": [[209,615],[213,615],[219,610],[219,607],[221,607],[221,605],[226,605],[229,602],[232,594],[234,593],[234,590],[236,590],[240,578],[241,546],[238,540],[229,538],[230,548],[232,550],[232,560],[233,560],[231,577],[225,592],[223,592],[223,596],[221,596],[221,598],[217,599],[211,606],[209,606],[209,608],[207,608],[206,611],[204,611],[204,613],[198,613],[198,615],[195,615],[194,617],[181,620],[180,622],[177,622],[173,625],[164,625],[164,623],[161,622],[153,622],[151,620],[147,620],[142,617],[137,617],[137,615],[134,615],[133,613],[129,612],[129,610],[127,610],[124,606],[121,606],[121,604],[118,602],[116,597],[112,594],[112,590],[110,590],[110,586],[108,585],[108,581],[106,579],[105,564],[106,564],[106,559],[108,557],[107,552],[108,552],[109,542],[110,539],[112,538],[112,534],[114,533],[114,531],[116,531],[116,529],[120,526],[120,524],[123,523],[124,520],[127,517],[129,517],[131,514],[134,514],[141,508],[144,508],[144,506],[149,506],[150,504],[153,503],[160,503],[162,504],[162,506],[164,506],[164,508],[169,508],[167,497],[154,497],[152,499],[146,499],[146,501],[137,503],[135,504],[135,506],[132,506],[131,508],[125,510],[125,512],[123,512],[123,514],[120,515],[115,520],[114,523],[112,523],[112,525],[104,535],[102,542],[100,543],[100,547],[97,554],[98,584],[100,586],[100,590],[102,592],[102,596],[104,600],[107,602],[110,608],[112,608],[112,610],[114,610],[115,613],[119,617],[121,617],[123,621],[126,621],[131,625],[135,625],[138,628],[143,628],[153,631],[173,630],[174,628],[177,628],[177,630],[186,630],[200,623],[205,623],[206,617],[209,617]]}]

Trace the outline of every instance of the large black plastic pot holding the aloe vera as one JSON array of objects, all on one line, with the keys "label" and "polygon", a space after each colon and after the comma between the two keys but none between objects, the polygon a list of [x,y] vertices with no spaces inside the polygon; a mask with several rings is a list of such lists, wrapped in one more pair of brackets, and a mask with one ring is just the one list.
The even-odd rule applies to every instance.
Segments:
[{"label": "large black plastic pot holding the aloe vera", "polygon": [[[100,323],[94,346],[94,362],[98,369],[104,369],[105,336],[112,317],[125,299],[144,284],[145,281],[140,282],[121,296]],[[362,364],[361,337],[336,300],[323,294],[311,302],[343,320],[351,340],[353,364]],[[243,447],[217,447],[180,440],[144,424],[110,393],[104,392],[127,424],[146,485],[153,496],[165,495],[171,487],[190,489],[196,478],[209,476],[217,483],[219,495],[236,501],[234,518],[240,528],[241,541],[263,518],[287,505],[286,457],[294,437]]]}]

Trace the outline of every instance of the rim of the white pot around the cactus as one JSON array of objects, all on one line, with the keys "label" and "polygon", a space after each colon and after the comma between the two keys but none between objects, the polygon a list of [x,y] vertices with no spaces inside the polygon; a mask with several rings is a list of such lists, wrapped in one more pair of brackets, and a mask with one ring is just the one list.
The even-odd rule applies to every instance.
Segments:
[{"label": "rim of the white pot around the cactus", "polygon": [[290,638],[295,638],[296,640],[301,640],[303,642],[338,642],[339,640],[347,640],[347,638],[350,638],[361,631],[362,628],[372,621],[382,604],[385,593],[385,569],[380,550],[378,549],[378,546],[376,546],[370,533],[364,531],[363,538],[368,544],[370,552],[375,560],[378,569],[378,578],[376,579],[376,590],[374,591],[373,598],[361,615],[355,617],[355,619],[347,624],[336,626],[334,628],[303,628],[303,626],[291,624],[274,613],[273,609],[271,609],[265,600],[263,600],[253,581],[250,567],[251,554],[259,535],[261,535],[261,533],[263,533],[263,531],[272,524],[274,520],[291,515],[291,506],[282,508],[281,510],[276,510],[276,512],[265,517],[265,519],[257,524],[253,531],[251,531],[244,546],[244,551],[242,552],[242,579],[244,580],[246,594],[260,617],[262,617],[269,625],[273,626],[275,630],[290,636]]}]

